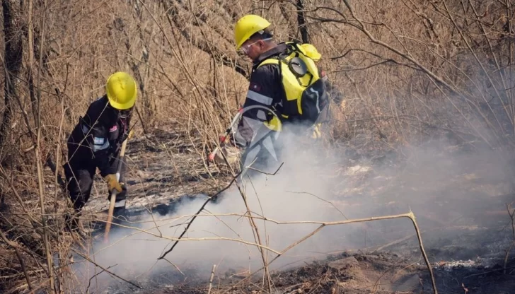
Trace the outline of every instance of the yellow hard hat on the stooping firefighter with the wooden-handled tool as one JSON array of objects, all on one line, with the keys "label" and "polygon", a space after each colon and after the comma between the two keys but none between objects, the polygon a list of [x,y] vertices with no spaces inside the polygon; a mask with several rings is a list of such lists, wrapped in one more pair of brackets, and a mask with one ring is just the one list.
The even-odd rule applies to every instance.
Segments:
[{"label": "yellow hard hat on the stooping firefighter with the wooden-handled tool", "polygon": [[112,73],[105,84],[105,92],[110,105],[117,110],[128,110],[134,106],[138,94],[136,81],[123,71]]}]

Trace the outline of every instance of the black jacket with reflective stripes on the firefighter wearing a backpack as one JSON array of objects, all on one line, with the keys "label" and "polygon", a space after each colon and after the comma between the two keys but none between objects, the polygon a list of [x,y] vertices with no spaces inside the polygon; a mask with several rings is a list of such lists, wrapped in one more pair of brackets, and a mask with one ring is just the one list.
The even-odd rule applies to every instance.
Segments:
[{"label": "black jacket with reflective stripes on the firefighter wearing a backpack", "polygon": [[[260,106],[252,110],[245,110],[242,114],[240,124],[238,124],[238,145],[246,145],[249,143],[253,135],[253,126],[259,122],[265,122],[272,119],[273,114],[267,113],[264,107],[271,108],[277,113],[282,122],[295,122],[297,117],[285,118],[282,116],[282,101],[286,101],[286,94],[282,86],[281,76],[279,75],[278,64],[264,64],[259,66],[262,61],[275,57],[287,49],[287,45],[282,42],[263,53],[253,62],[252,73],[250,74],[250,84],[247,97],[243,104],[243,108],[251,106]],[[258,67],[259,66],[259,67]],[[338,92],[328,80],[324,71],[320,71],[320,77],[323,78],[325,86],[332,100],[341,102],[342,95]],[[328,107],[326,107],[328,108]],[[241,142],[244,141],[244,142]]]}]

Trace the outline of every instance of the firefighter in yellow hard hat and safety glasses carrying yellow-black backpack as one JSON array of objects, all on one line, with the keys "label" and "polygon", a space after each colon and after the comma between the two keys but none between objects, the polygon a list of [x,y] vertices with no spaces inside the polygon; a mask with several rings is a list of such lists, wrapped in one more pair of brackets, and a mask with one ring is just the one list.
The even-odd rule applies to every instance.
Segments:
[{"label": "firefighter in yellow hard hat and safety glasses carrying yellow-black backpack", "polygon": [[[313,45],[273,40],[270,23],[260,16],[247,15],[234,29],[236,50],[252,59],[250,85],[243,105],[242,119],[235,134],[245,145],[241,168],[273,171],[270,164],[282,162],[289,130],[306,136],[323,122],[328,111],[328,78],[315,60],[320,54]],[[310,134],[311,135],[311,134]],[[308,135],[309,136],[309,135]],[[295,143],[295,142],[292,142]]]}]

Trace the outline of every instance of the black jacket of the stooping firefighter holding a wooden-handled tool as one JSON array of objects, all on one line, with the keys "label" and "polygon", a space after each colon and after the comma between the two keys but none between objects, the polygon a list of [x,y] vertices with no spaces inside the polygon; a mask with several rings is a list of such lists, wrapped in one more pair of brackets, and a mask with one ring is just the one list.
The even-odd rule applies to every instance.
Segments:
[{"label": "black jacket of the stooping firefighter holding a wooden-handled tool", "polygon": [[129,134],[130,117],[110,106],[107,96],[89,105],[68,139],[68,160],[72,169],[95,165],[100,175],[115,174],[114,163],[122,142]]}]

